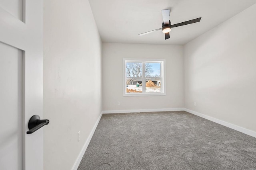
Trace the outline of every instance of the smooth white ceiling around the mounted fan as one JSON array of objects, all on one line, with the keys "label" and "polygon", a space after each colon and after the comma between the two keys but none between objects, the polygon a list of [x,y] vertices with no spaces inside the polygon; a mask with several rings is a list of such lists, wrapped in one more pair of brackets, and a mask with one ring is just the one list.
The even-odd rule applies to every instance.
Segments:
[{"label": "smooth white ceiling around the mounted fan", "polygon": [[[109,43],[184,45],[256,3],[256,0],[89,0],[100,37]],[[162,31],[163,9],[172,24],[202,17],[198,23],[175,27],[170,39]],[[234,28],[236,29],[236,28]]]}]

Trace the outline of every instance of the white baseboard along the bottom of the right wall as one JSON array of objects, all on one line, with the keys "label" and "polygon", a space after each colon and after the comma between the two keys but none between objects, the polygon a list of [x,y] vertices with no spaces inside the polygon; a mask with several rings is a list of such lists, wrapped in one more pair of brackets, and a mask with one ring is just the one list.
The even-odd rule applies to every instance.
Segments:
[{"label": "white baseboard along the bottom of the right wall", "polygon": [[234,125],[234,124],[232,124],[232,123],[228,123],[228,122],[226,122],[226,121],[222,121],[222,120],[220,120],[220,119],[216,119],[216,118],[214,118],[214,117],[210,117],[210,116],[208,116],[208,115],[204,115],[204,114],[202,114],[202,113],[198,113],[198,112],[193,111],[193,110],[190,110],[190,109],[184,108],[184,111],[187,111],[187,112],[189,112],[189,113],[192,113],[192,114],[197,115],[197,116],[199,116],[199,117],[202,117],[202,118],[204,118],[204,119],[208,119],[208,120],[213,121],[213,122],[215,122],[215,123],[218,123],[218,124],[220,124],[220,125],[229,127],[229,128],[234,129],[234,130],[236,130],[236,131],[245,133],[246,135],[250,135],[250,136],[252,136],[252,137],[256,137],[256,132],[251,131],[251,130],[249,130],[249,129],[245,129],[244,127],[240,127],[240,126]]}]

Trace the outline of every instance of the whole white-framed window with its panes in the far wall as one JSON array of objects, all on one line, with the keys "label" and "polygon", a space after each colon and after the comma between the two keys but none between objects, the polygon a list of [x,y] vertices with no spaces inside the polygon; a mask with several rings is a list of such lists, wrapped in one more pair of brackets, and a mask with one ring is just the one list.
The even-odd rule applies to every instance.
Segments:
[{"label": "whole white-framed window with its panes in the far wall", "polygon": [[123,59],[124,96],[165,95],[165,59]]}]

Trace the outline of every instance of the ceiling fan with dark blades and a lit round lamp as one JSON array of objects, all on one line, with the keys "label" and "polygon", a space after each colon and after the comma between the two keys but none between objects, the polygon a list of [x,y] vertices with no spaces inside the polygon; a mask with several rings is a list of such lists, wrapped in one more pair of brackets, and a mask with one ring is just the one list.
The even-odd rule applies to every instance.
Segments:
[{"label": "ceiling fan with dark blades and a lit round lamp", "polygon": [[201,20],[201,17],[200,17],[200,18],[196,18],[194,20],[189,20],[189,21],[185,21],[185,22],[176,23],[174,25],[171,25],[171,21],[169,20],[170,9],[162,10],[162,16],[163,16],[162,28],[158,28],[158,29],[155,29],[155,30],[152,30],[152,31],[141,33],[139,35],[145,35],[145,34],[152,33],[154,31],[158,31],[158,30],[162,29],[162,32],[165,34],[165,39],[168,39],[168,38],[170,38],[169,32],[171,31],[172,28],[179,27],[179,26],[182,26],[182,25],[188,25],[190,23],[196,23],[196,22],[199,22]]}]

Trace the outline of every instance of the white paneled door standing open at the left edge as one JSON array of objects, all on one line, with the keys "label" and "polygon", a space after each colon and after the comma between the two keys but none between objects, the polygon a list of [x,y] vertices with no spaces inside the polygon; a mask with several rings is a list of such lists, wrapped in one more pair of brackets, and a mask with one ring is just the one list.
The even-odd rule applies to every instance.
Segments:
[{"label": "white paneled door standing open at the left edge", "polygon": [[43,0],[0,0],[0,170],[43,170]]}]

